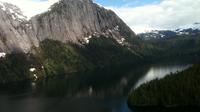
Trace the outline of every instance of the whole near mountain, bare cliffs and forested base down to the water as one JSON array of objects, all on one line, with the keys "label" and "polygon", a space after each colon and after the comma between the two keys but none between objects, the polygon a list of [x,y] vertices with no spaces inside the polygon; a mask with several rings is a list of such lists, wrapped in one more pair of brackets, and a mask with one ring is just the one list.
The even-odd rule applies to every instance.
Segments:
[{"label": "whole near mountain, bare cliffs and forested base down to the water", "polygon": [[[60,0],[30,20],[0,4],[0,83],[129,66],[135,33],[92,0]],[[132,43],[135,43],[132,45]]]}]

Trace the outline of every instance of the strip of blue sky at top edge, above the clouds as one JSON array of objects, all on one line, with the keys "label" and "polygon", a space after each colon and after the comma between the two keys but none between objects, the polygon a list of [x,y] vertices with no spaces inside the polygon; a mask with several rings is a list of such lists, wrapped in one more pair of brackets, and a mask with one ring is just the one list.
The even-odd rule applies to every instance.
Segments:
[{"label": "strip of blue sky at top edge, above the clouds", "polygon": [[95,3],[99,3],[103,6],[113,7],[136,7],[147,4],[159,3],[161,0],[93,0]]}]

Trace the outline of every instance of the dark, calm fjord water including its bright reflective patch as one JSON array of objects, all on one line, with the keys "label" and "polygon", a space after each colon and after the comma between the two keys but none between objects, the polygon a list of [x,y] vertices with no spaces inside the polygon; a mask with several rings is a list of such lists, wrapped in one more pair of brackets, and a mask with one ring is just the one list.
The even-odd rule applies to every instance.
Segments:
[{"label": "dark, calm fjord water including its bright reflective patch", "polygon": [[146,65],[10,84],[0,88],[0,112],[132,112],[128,92],[188,64]]}]

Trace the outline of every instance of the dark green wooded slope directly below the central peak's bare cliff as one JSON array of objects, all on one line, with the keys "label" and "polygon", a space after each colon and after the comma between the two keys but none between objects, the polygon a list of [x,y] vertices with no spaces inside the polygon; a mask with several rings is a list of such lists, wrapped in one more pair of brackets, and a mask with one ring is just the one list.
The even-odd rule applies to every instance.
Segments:
[{"label": "dark green wooded slope directly below the central peak's bare cliff", "polygon": [[47,75],[130,65],[136,56],[112,38],[92,38],[85,46],[54,40],[41,42],[41,61]]}]

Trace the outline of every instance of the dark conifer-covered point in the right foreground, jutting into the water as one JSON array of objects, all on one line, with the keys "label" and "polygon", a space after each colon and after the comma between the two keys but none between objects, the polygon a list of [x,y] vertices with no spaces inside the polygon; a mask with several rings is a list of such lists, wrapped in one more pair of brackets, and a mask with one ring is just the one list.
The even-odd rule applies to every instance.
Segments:
[{"label": "dark conifer-covered point in the right foreground, jutting into the water", "polygon": [[153,80],[129,94],[130,106],[200,106],[200,64],[161,80]]}]

